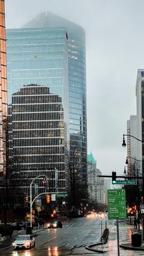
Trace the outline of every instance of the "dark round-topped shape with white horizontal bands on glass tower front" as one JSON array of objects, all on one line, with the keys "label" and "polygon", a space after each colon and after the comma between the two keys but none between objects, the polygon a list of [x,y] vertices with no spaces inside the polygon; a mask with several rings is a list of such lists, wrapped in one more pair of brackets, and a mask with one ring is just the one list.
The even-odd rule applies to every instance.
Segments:
[{"label": "dark round-topped shape with white horizontal bands on glass tower front", "polygon": [[[30,184],[39,175],[46,176],[49,192],[65,191],[68,120],[64,120],[62,98],[46,86],[24,86],[12,95],[9,120],[10,163],[21,192],[29,195]],[[36,183],[40,194],[41,178]]]}]

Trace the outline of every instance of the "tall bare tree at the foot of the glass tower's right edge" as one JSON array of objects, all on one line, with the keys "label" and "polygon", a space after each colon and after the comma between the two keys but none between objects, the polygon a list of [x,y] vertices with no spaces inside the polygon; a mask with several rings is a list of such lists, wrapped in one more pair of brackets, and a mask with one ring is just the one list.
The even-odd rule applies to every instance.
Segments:
[{"label": "tall bare tree at the foot of the glass tower's right edge", "polygon": [[82,202],[86,203],[88,199],[87,177],[83,176],[87,163],[82,161],[82,153],[76,145],[71,145],[70,148],[65,147],[65,163],[69,205],[73,207],[73,213],[76,214],[77,208],[80,208]]}]

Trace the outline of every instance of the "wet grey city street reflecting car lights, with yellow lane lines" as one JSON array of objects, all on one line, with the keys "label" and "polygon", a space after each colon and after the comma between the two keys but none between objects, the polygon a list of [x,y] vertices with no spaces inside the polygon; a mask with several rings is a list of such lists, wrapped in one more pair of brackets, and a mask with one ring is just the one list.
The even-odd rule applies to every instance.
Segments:
[{"label": "wet grey city street reflecting car lights, with yellow lane lines", "polygon": [[[102,225],[101,225],[102,224]],[[104,230],[106,220],[99,218],[87,219],[77,218],[70,222],[63,223],[62,229],[41,229],[35,235],[35,247],[27,250],[13,251],[10,241],[7,249],[0,249],[0,255],[13,256],[64,256],[64,255],[96,255],[96,252],[88,251],[85,246],[99,242],[101,230]],[[114,221],[107,221],[109,228],[109,239],[104,246],[94,246],[97,249],[106,251],[104,255],[117,255],[117,229]],[[121,222],[120,244],[131,241],[131,227],[126,222]],[[102,229],[101,229],[102,228]],[[21,233],[25,233],[25,230]],[[3,242],[4,243],[4,242]],[[102,255],[100,253],[99,255]],[[120,248],[120,255],[144,255],[142,251],[131,251]]]}]

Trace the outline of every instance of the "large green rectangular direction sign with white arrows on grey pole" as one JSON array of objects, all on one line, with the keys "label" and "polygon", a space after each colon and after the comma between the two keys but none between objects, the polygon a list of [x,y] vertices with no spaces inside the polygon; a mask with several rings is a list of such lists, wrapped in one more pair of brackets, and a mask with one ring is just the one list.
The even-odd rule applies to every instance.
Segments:
[{"label": "large green rectangular direction sign with white arrows on grey pole", "polygon": [[125,189],[107,189],[109,219],[126,219]]}]

